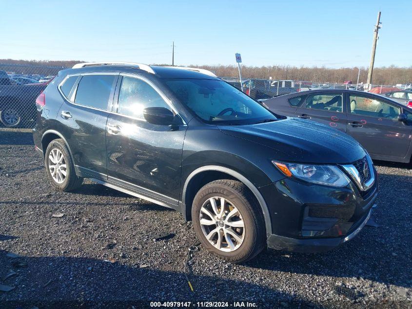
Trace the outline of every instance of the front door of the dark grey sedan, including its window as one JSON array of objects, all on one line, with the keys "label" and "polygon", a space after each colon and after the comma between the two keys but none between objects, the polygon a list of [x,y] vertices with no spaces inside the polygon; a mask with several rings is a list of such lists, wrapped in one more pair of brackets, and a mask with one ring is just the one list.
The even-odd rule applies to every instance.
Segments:
[{"label": "front door of the dark grey sedan, including its window", "polygon": [[412,126],[398,121],[401,108],[373,95],[348,93],[347,133],[373,156],[404,158]]}]

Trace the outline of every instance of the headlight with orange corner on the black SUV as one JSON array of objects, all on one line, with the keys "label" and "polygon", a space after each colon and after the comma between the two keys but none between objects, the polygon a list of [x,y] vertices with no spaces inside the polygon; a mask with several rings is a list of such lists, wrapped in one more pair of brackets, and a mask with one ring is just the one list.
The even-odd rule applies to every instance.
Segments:
[{"label": "headlight with orange corner on the black SUV", "polygon": [[272,163],[286,176],[321,185],[346,186],[349,178],[334,165],[312,165],[286,163],[273,160]]}]

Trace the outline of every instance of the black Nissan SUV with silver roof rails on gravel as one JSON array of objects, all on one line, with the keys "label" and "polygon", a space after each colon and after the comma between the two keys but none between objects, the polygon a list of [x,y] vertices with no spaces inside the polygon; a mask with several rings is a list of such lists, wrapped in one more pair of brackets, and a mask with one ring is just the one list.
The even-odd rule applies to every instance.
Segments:
[{"label": "black Nissan SUV with silver roof rails on gravel", "polygon": [[36,149],[57,189],[90,178],[174,208],[227,261],[265,246],[334,248],[376,198],[373,163],[352,137],[278,116],[209,71],[80,63],[37,110]]}]

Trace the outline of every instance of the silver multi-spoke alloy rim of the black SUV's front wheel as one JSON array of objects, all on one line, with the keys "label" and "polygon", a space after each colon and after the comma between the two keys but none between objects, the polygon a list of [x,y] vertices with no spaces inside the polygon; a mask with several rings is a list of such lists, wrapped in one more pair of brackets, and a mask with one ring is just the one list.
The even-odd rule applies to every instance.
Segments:
[{"label": "silver multi-spoke alloy rim of the black SUV's front wheel", "polygon": [[245,237],[245,223],[239,210],[229,200],[215,196],[200,208],[200,227],[206,239],[217,249],[232,252]]}]

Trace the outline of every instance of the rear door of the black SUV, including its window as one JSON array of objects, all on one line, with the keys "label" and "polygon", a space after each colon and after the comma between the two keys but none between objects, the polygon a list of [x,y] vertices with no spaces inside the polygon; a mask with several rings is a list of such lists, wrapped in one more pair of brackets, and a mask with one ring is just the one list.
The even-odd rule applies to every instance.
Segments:
[{"label": "rear door of the black SUV, including its window", "polygon": [[[75,78],[75,77],[73,77]],[[70,76],[67,82],[70,83]],[[107,179],[106,122],[112,108],[118,73],[86,73],[77,78],[58,119],[78,169],[93,177]],[[59,90],[63,91],[65,83]]]}]

